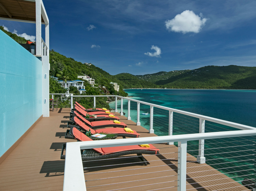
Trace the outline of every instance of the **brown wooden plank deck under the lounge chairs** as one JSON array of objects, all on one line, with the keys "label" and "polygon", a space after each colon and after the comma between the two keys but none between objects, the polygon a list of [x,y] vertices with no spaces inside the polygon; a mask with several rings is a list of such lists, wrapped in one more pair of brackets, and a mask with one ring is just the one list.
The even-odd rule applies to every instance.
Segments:
[{"label": "brown wooden plank deck under the lounge chairs", "polygon": [[[50,112],[50,117],[42,118],[0,164],[1,191],[63,189],[65,161],[60,159],[62,144],[76,141],[64,139],[69,111],[63,108]],[[149,134],[148,130],[136,126],[124,116],[119,117],[141,137],[157,136]],[[84,167],[87,167],[84,169],[87,190],[177,190],[177,147],[165,143],[154,146],[160,149],[161,154],[145,156],[148,166],[144,166],[138,157],[127,156],[84,163]],[[190,178],[187,179],[187,190],[248,190],[210,166],[196,163],[195,157],[187,156],[187,167],[191,167],[187,168],[187,178]]]}]

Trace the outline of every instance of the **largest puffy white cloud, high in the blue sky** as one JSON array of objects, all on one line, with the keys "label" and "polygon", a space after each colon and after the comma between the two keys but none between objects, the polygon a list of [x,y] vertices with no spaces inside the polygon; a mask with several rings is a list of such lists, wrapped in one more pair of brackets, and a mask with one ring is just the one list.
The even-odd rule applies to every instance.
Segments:
[{"label": "largest puffy white cloud, high in the blue sky", "polygon": [[207,20],[207,18],[203,18],[202,13],[198,16],[193,11],[185,10],[173,19],[166,20],[165,26],[168,31],[182,32],[183,34],[188,32],[199,33]]}]

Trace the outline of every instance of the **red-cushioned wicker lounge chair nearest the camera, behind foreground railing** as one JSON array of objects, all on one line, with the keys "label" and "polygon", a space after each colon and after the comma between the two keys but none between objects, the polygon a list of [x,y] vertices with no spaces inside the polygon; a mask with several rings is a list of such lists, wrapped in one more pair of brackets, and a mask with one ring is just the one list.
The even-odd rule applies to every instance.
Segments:
[{"label": "red-cushioned wicker lounge chair nearest the camera, behind foreground railing", "polygon": [[[92,139],[88,138],[84,133],[80,132],[76,128],[72,128],[72,133],[78,141],[92,141]],[[143,163],[147,165],[147,161],[142,156],[142,154],[146,154],[146,155],[159,154],[159,149],[155,148],[152,144],[149,144],[149,146],[150,146],[149,148],[140,147],[139,145],[93,148],[90,150],[82,150],[81,157],[82,157],[82,161],[90,161],[90,160],[101,160],[101,159],[115,158],[118,156],[137,154],[137,156],[143,161]],[[63,144],[62,151],[61,151],[61,159],[65,159],[65,155],[63,155],[65,148],[66,148],[66,144]]]}]

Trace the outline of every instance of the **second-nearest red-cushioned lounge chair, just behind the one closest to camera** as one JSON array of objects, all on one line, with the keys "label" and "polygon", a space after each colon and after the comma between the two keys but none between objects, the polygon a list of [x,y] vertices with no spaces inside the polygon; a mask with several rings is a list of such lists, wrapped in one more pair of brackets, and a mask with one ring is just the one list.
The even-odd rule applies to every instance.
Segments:
[{"label": "second-nearest red-cushioned lounge chair, just behind the one closest to camera", "polygon": [[[82,130],[84,131],[88,131],[89,128],[87,125],[85,125],[82,121],[80,121],[77,117],[72,117],[72,120],[76,123],[77,126],[70,126],[70,130],[67,130],[66,136],[65,138],[68,139],[72,139],[72,137],[70,137],[69,135],[67,135],[68,133],[72,135],[72,131],[71,128],[76,127],[76,128],[82,128]],[[123,128],[104,128],[104,129],[97,129],[97,130],[93,130],[91,129],[91,133],[92,134],[96,134],[96,133],[108,133],[108,134],[116,134],[117,136],[122,136],[123,138],[125,137],[132,137],[132,138],[137,138],[140,134],[137,133],[136,131],[133,130],[133,133],[131,132],[126,132]]]}]

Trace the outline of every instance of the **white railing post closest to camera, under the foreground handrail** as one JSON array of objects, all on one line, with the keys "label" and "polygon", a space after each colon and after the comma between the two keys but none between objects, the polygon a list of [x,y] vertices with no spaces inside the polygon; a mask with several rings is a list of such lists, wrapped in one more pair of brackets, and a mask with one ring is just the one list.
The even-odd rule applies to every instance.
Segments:
[{"label": "white railing post closest to camera, under the foreground handrail", "polygon": [[187,141],[178,142],[178,191],[186,191]]}]

